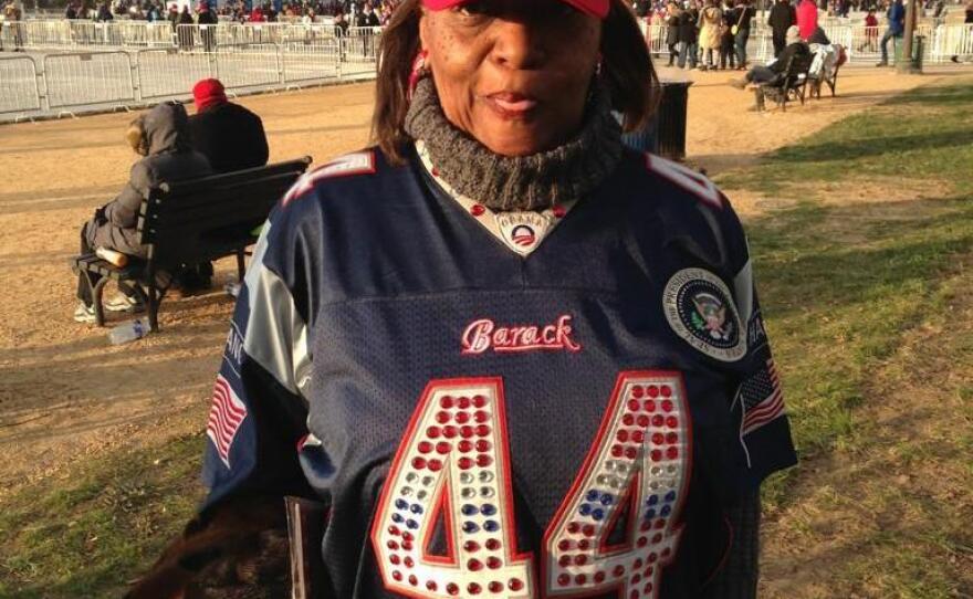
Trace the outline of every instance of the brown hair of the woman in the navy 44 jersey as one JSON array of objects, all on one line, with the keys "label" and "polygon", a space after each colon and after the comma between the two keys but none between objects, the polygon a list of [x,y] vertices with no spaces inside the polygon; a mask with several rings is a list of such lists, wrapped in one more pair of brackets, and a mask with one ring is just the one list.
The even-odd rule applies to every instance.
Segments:
[{"label": "brown hair of the woman in the navy 44 jersey", "polygon": [[[412,62],[419,53],[421,0],[405,0],[393,12],[381,33],[378,82],[372,138],[393,162],[412,141],[405,130],[409,111],[408,86]],[[659,77],[635,13],[624,0],[610,0],[601,24],[601,81],[613,107],[625,116],[625,129],[638,129],[656,112],[661,96]]]}]

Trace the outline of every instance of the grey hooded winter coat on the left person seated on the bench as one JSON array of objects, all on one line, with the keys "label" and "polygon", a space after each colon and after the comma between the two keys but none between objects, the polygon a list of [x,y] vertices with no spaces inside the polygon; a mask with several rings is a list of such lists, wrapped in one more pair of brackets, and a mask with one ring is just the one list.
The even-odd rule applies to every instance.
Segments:
[{"label": "grey hooded winter coat on the left person seated on the bench", "polygon": [[189,117],[181,104],[159,104],[145,115],[143,129],[148,155],[132,166],[128,182],[118,197],[98,211],[96,227],[90,228],[88,243],[94,248],[145,256],[136,225],[138,209],[149,189],[168,181],[212,175],[206,156],[192,149]]}]

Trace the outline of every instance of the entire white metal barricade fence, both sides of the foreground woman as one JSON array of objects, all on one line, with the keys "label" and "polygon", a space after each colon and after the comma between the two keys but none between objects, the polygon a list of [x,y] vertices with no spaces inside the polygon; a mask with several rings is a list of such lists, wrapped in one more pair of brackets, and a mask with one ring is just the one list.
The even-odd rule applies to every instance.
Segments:
[{"label": "entire white metal barricade fence, both sides of the foreground woman", "polygon": [[[883,30],[848,24],[825,25],[852,63],[877,61]],[[644,25],[651,52],[667,55],[668,28]],[[973,25],[922,25],[923,59],[973,62]],[[773,56],[770,30],[755,28],[749,55]],[[91,23],[27,21],[2,23],[0,48],[72,51],[42,60],[17,56],[0,61],[0,114],[40,114],[81,107],[133,106],[186,98],[192,85],[219,77],[231,92],[284,88],[314,82],[373,78],[381,30],[329,24],[263,23],[180,25],[168,23]],[[894,60],[894,44],[889,56]]]}]

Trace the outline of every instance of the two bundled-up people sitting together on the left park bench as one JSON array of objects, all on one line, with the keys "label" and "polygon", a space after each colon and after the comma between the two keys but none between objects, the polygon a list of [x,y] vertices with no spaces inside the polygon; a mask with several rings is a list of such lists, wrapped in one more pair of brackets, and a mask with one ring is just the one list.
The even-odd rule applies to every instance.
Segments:
[{"label": "two bundled-up people sitting together on the left park bench", "polygon": [[[189,116],[181,104],[167,102],[139,115],[128,126],[125,137],[139,158],[132,167],[128,182],[118,196],[95,210],[81,230],[81,253],[96,249],[145,258],[147,248],[139,242],[138,210],[149,189],[164,182],[232,172],[266,164],[269,148],[260,117],[229,102],[223,84],[208,78],[192,88],[196,114]],[[182,294],[209,288],[212,266],[186,264],[174,276],[174,287]],[[82,273],[77,282],[79,304],[74,319],[94,323],[92,288],[97,283],[92,273]],[[109,312],[143,312],[145,305],[135,288],[118,284],[118,294],[105,302]]]}]

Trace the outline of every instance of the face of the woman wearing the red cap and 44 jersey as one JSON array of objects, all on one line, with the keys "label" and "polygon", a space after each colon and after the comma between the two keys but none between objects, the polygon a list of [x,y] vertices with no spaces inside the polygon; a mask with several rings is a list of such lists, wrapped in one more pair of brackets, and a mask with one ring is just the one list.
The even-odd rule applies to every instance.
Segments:
[{"label": "face of the woman wearing the red cap and 44 jersey", "polygon": [[601,22],[557,0],[481,0],[419,25],[447,118],[490,150],[526,156],[580,127]]}]

